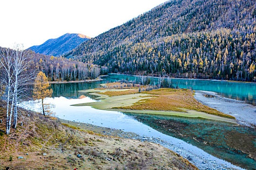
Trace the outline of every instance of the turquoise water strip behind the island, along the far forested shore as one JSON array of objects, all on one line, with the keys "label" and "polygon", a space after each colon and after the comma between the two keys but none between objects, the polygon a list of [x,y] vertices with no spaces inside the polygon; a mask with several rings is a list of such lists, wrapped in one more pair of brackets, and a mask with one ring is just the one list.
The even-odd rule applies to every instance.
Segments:
[{"label": "turquoise water strip behind the island, along the far forested shore", "polygon": [[[97,88],[101,83],[115,82],[122,79],[141,81],[140,77],[120,74],[110,74],[104,77],[104,79],[104,81],[92,83],[52,84],[51,87],[54,91],[53,96],[78,97],[79,90]],[[151,77],[150,79],[152,84],[158,84],[158,78]],[[172,84],[179,88],[213,91],[231,99],[256,105],[256,84],[193,79],[172,79]]]}]

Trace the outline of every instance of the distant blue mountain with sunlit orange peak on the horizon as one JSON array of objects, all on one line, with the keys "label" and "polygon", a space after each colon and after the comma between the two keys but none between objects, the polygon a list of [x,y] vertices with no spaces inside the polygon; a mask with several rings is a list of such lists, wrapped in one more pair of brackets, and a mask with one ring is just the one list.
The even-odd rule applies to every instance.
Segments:
[{"label": "distant blue mountain with sunlit orange peak on the horizon", "polygon": [[48,39],[43,44],[28,49],[45,55],[59,56],[76,48],[82,42],[90,39],[83,34],[64,34],[55,39]]}]

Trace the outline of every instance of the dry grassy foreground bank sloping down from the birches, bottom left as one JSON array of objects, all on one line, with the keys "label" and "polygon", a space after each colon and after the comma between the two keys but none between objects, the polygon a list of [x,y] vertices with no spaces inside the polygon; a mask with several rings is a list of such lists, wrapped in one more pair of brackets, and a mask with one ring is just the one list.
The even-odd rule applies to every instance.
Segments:
[{"label": "dry grassy foreground bank sloping down from the birches, bottom left", "polygon": [[[23,120],[19,119],[17,129],[8,136],[0,134],[0,169],[197,169],[158,144],[105,136],[74,122],[60,122],[25,110],[21,113]],[[5,119],[4,110],[0,119]],[[4,126],[3,121],[0,129]]]}]

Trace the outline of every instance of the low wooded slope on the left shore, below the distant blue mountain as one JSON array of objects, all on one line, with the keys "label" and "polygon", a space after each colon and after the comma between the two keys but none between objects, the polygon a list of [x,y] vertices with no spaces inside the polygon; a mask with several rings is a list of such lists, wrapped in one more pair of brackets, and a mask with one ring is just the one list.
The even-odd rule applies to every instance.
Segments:
[{"label": "low wooded slope on the left shore, below the distant blue mountain", "polygon": [[[1,57],[7,51],[12,55],[11,57],[15,57],[16,50],[0,47]],[[95,79],[100,73],[106,73],[105,67],[64,57],[44,55],[31,50],[24,50],[23,55],[28,57],[27,62],[30,63],[28,69],[25,70],[26,74],[34,75],[42,71],[48,77],[48,80],[51,81],[83,81],[86,79]],[[0,70],[0,74],[4,75],[4,71]],[[34,81],[34,79],[31,79],[31,81]]]}]

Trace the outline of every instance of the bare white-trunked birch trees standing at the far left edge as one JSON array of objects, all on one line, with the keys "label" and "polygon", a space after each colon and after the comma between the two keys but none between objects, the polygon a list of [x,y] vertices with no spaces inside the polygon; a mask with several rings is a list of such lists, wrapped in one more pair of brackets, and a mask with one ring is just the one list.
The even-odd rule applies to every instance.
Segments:
[{"label": "bare white-trunked birch trees standing at the far left edge", "polygon": [[19,94],[24,84],[31,80],[33,71],[26,73],[30,63],[30,53],[16,45],[14,50],[0,49],[1,84],[6,88],[6,134],[10,134],[11,120],[14,116],[13,128],[17,127]]}]

